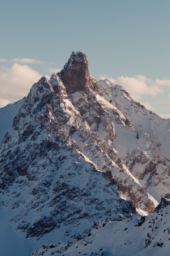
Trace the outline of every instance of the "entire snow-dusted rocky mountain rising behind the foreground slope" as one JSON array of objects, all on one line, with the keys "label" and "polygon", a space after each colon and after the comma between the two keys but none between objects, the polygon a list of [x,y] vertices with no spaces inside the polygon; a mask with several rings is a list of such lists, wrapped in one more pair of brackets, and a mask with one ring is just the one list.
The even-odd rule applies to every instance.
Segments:
[{"label": "entire snow-dusted rocky mountain rising behind the foreground slope", "polygon": [[0,120],[3,255],[66,242],[96,220],[150,214],[170,190],[170,119],[97,82],[82,52]]}]

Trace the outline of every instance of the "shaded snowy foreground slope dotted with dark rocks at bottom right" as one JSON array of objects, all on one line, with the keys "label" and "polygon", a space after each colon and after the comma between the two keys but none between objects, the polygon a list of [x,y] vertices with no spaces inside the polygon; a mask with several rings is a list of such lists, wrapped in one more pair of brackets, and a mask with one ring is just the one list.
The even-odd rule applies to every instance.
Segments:
[{"label": "shaded snowy foreground slope dotted with dark rocks at bottom right", "polygon": [[32,256],[106,255],[145,256],[170,252],[170,205],[145,217],[132,217],[120,222],[96,222],[67,243],[44,244]]}]

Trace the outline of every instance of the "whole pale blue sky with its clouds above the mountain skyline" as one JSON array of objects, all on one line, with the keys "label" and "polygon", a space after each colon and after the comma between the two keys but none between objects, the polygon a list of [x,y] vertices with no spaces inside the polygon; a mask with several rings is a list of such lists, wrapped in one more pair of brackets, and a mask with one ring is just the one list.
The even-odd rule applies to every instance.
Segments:
[{"label": "whole pale blue sky with its clouds above the mountain skyline", "polygon": [[82,51],[90,74],[170,118],[169,0],[1,0],[0,106]]}]

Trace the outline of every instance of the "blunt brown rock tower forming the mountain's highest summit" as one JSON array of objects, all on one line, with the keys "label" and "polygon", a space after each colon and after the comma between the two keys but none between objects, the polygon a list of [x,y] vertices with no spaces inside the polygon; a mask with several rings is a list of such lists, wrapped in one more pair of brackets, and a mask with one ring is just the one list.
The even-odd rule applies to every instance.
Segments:
[{"label": "blunt brown rock tower forming the mountain's highest summit", "polygon": [[68,62],[59,73],[68,94],[81,91],[89,84],[89,70],[86,55],[72,52]]}]

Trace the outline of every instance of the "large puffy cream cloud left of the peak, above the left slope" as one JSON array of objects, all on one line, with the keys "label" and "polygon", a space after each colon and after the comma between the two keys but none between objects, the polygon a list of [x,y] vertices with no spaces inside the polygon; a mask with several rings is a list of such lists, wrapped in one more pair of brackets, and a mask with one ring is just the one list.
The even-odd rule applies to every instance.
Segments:
[{"label": "large puffy cream cloud left of the peak, above the left slope", "polygon": [[[27,65],[14,63],[11,68],[0,67],[1,107],[27,96],[31,86],[42,75]],[[9,102],[10,101],[10,102]]]}]

